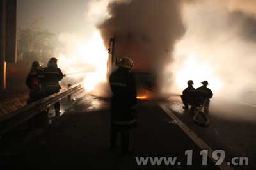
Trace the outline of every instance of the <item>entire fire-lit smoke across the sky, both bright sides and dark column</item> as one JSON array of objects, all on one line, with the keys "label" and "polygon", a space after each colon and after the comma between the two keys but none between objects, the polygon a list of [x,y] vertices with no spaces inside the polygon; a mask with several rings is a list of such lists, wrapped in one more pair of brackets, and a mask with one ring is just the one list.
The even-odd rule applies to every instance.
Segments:
[{"label": "entire fire-lit smoke across the sky, both bright sides and dark column", "polygon": [[[157,76],[166,93],[188,79],[209,81],[215,97],[255,104],[255,1],[18,1],[20,28],[51,31],[65,81],[92,91],[106,84],[109,38],[116,56]],[[19,47],[18,47],[19,48]],[[42,59],[45,59],[42,56]]]}]

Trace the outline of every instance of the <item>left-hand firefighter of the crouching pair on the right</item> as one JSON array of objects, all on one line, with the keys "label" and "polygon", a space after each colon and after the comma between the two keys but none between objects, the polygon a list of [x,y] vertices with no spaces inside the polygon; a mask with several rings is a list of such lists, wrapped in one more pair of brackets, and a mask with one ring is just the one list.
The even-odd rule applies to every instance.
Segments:
[{"label": "left-hand firefighter of the crouching pair on the right", "polygon": [[184,104],[183,109],[188,110],[188,104],[191,104],[193,100],[193,93],[195,88],[193,87],[194,82],[192,80],[188,81],[188,88],[184,89],[182,95],[180,96]]}]

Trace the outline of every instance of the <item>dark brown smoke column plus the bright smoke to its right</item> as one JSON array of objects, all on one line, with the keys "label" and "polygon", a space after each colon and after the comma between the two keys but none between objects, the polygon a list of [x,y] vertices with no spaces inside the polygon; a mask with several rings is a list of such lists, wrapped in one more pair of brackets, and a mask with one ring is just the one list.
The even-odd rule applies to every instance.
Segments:
[{"label": "dark brown smoke column plus the bright smoke to its right", "polygon": [[105,47],[115,36],[116,56],[156,74],[161,91],[180,93],[189,79],[195,86],[207,80],[215,95],[255,104],[254,4],[114,1],[98,27]]}]

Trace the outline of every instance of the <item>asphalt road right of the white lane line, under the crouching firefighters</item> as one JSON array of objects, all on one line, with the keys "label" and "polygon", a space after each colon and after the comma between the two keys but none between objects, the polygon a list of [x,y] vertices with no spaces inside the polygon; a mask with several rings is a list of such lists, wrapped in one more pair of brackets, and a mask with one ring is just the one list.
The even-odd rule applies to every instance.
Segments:
[{"label": "asphalt road right of the white lane line, under the crouching firefighters", "polygon": [[211,101],[209,127],[198,127],[191,115],[184,112],[179,97],[171,97],[166,105],[182,122],[213,149],[221,149],[226,159],[248,157],[249,166],[234,166],[235,169],[256,169],[256,107],[254,105],[223,100]]}]

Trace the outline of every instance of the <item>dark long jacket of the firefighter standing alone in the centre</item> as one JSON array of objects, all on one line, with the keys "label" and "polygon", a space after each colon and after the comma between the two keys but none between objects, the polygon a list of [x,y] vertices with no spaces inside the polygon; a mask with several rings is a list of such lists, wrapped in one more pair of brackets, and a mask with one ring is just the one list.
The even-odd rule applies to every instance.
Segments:
[{"label": "dark long jacket of the firefighter standing alone in the centre", "polygon": [[111,118],[117,125],[136,124],[134,116],[137,102],[134,74],[125,68],[118,68],[109,77],[113,97],[111,99]]}]

